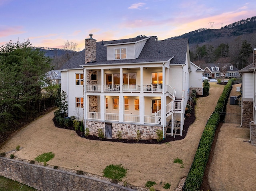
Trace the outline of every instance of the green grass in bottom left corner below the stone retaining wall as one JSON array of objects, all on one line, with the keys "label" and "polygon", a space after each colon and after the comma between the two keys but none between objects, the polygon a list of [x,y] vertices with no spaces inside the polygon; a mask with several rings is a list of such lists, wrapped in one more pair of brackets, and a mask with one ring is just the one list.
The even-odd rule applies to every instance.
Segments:
[{"label": "green grass in bottom left corner below the stone retaining wall", "polygon": [[36,189],[0,176],[0,191],[36,191]]}]

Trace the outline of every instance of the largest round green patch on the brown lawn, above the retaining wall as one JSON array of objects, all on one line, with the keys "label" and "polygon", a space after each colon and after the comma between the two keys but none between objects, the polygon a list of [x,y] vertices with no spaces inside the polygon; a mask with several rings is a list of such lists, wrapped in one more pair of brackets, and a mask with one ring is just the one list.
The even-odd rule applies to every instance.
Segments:
[{"label": "largest round green patch on the brown lawn, above the retaining wall", "polygon": [[119,165],[108,165],[103,170],[103,176],[112,179],[112,181],[122,181],[126,176],[127,169],[125,169],[122,164]]}]

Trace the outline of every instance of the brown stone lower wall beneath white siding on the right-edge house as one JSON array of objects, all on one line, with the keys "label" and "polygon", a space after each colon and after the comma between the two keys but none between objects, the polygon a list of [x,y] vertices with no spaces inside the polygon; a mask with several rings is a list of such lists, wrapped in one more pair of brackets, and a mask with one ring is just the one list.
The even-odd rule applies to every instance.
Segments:
[{"label": "brown stone lower wall beneath white siding on the right-edge house", "polygon": [[242,101],[242,127],[249,128],[250,121],[253,121],[253,102]]}]

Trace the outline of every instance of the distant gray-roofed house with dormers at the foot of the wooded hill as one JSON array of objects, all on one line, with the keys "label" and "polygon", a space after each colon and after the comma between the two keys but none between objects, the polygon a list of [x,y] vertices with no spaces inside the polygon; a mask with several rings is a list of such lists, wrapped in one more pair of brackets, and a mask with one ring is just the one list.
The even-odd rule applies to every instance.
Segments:
[{"label": "distant gray-roofed house with dormers at the foot of the wooded hill", "polygon": [[204,69],[204,77],[220,78],[223,75],[228,77],[239,77],[238,69],[230,63],[211,63],[201,64],[200,67]]}]

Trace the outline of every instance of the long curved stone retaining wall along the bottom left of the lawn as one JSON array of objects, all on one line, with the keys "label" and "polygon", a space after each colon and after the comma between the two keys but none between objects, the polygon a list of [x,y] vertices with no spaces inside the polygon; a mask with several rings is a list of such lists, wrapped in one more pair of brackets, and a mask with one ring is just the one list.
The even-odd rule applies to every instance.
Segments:
[{"label": "long curved stone retaining wall along the bottom left of the lawn", "polygon": [[135,191],[94,177],[3,157],[0,175],[43,191]]}]

